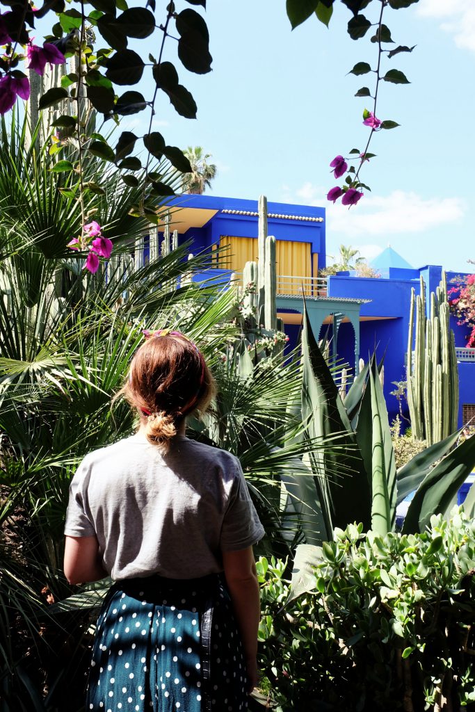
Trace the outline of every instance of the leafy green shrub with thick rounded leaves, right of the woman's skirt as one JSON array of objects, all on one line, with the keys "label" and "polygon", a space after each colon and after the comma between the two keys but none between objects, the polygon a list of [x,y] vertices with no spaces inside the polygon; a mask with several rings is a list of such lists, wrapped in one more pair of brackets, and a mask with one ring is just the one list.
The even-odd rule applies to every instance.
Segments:
[{"label": "leafy green shrub with thick rounded leaves, right of the woman's skirt", "polygon": [[259,560],[276,708],[473,712],[475,521],[455,508],[424,534],[361,531],[335,530],[314,570],[296,562],[290,598],[285,564]]}]

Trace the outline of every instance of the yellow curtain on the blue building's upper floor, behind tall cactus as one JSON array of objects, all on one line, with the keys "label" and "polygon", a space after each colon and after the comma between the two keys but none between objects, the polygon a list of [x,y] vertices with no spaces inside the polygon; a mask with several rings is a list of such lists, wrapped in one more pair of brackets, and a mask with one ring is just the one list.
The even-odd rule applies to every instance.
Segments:
[{"label": "yellow curtain on the blue building's upper floor, behind tall cactus", "polygon": [[[226,251],[219,258],[221,269],[242,272],[246,262],[257,261],[257,239],[254,237],[233,237],[222,235],[219,241]],[[300,294],[302,286],[306,294],[311,294],[311,246],[308,242],[276,240],[277,292],[280,294]]]}]

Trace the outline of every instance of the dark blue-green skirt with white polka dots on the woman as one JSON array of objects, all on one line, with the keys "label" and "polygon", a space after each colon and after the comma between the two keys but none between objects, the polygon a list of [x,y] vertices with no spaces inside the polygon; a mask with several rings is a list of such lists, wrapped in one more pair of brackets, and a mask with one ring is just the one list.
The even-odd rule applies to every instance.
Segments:
[{"label": "dark blue-green skirt with white polka dots on the woman", "polygon": [[111,587],[98,619],[86,712],[240,712],[246,684],[221,576],[152,576]]}]

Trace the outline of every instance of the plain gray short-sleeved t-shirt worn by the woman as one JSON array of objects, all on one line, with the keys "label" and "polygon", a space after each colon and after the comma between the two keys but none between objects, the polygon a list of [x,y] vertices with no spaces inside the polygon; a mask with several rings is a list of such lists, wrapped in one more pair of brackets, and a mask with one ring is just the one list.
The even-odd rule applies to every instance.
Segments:
[{"label": "plain gray short-sleeved t-shirt worn by the woman", "polygon": [[184,436],[167,454],[138,433],[88,454],[71,481],[65,534],[96,535],[113,579],[189,579],[264,530],[239,460]]}]

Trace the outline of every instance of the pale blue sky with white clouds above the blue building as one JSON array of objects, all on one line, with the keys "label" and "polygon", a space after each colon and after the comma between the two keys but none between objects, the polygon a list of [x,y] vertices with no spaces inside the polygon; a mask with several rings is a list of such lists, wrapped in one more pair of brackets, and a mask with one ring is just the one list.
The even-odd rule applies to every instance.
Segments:
[{"label": "pale blue sky with white clouds above the blue building", "polygon": [[[178,117],[163,96],[154,126],[169,144],[201,145],[212,153],[219,173],[211,193],[264,193],[269,200],[324,205],[330,254],[343,243],[372,258],[390,243],[414,266],[469,269],[466,260],[475,258],[474,1],[420,0],[410,9],[385,11],[396,43],[417,45],[411,54],[385,60],[411,84],[380,85],[378,117],[401,126],[375,135],[377,158],[362,174],[372,192],[350,210],[325,199],[337,184],[328,164],[365,145],[362,110],[371,105],[353,95],[362,85],[372,87],[370,75],[347,73],[357,61],[375,66],[375,45],[350,39],[350,14],[340,3],[329,30],[310,19],[294,31],[283,1],[207,5],[212,73],[192,75],[177,63],[180,81],[197,100],[198,119]],[[173,61],[172,41],[167,53]],[[137,133],[138,116],[130,120],[138,122]]]}]

